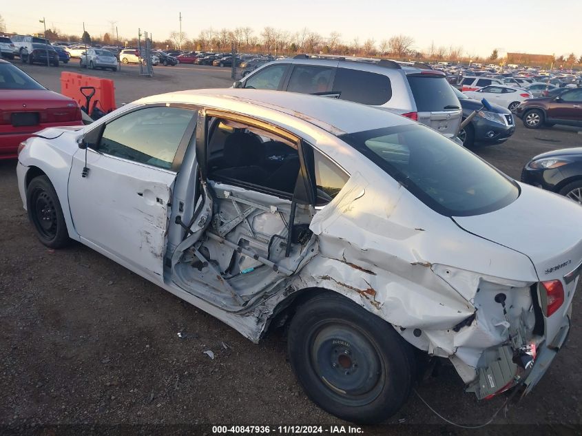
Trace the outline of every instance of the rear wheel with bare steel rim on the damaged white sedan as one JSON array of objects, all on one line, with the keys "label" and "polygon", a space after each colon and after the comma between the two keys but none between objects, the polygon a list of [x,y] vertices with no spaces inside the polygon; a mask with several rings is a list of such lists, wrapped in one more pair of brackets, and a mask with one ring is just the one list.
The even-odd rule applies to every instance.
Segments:
[{"label": "rear wheel with bare steel rim on the damaged white sedan", "polygon": [[340,294],[321,293],[302,304],[288,340],[289,360],[304,391],[337,417],[382,422],[410,394],[410,345],[390,324]]}]

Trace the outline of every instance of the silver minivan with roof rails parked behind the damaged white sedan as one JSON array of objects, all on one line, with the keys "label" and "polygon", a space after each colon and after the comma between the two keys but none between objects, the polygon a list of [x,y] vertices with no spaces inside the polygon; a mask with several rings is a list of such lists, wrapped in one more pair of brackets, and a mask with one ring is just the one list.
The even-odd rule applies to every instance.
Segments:
[{"label": "silver minivan with roof rails parked behind the damaged white sedan", "polygon": [[300,54],[269,62],[234,87],[335,96],[389,110],[454,138],[461,103],[442,72],[385,59]]}]

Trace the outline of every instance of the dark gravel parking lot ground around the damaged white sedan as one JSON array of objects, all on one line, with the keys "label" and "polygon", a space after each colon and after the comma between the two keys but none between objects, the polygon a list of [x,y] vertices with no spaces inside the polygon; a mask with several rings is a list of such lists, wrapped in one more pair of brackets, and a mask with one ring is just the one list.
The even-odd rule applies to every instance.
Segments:
[{"label": "dark gravel parking lot ground around the damaged white sedan", "polygon": [[[17,65],[19,65],[17,63]],[[59,91],[63,70],[19,65]],[[137,66],[91,74],[114,79],[118,105],[143,96],[231,85],[229,68]],[[519,179],[537,154],[582,147],[571,127],[517,132],[475,152]],[[100,254],[74,244],[47,249],[34,236],[17,190],[13,160],[0,161],[0,422],[21,424],[340,424],[304,395],[279,332],[255,345],[222,322]],[[454,171],[454,169],[451,169]],[[543,205],[539,205],[543,207]],[[535,211],[532,211],[535,214]],[[568,231],[568,229],[565,229]],[[582,304],[574,299],[574,320]],[[180,335],[178,335],[180,333]],[[204,353],[214,352],[214,360]],[[576,322],[537,388],[499,424],[582,424],[582,333]],[[417,392],[459,424],[486,422],[504,397],[477,402],[452,367]],[[413,393],[393,424],[442,424]],[[579,428],[579,427],[578,427]],[[372,430],[371,430],[372,431]],[[417,432],[417,428],[406,428]],[[490,430],[495,433],[497,430]]]}]

